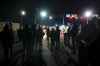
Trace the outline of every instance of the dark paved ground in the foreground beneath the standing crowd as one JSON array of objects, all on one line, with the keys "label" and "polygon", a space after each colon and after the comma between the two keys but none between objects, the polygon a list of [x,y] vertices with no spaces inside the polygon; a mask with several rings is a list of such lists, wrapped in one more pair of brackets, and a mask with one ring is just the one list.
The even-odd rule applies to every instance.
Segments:
[{"label": "dark paved ground in the foreground beneath the standing crowd", "polygon": [[[24,49],[22,42],[16,42],[13,44],[13,56],[10,57],[10,63],[14,66],[75,66],[78,63],[78,53],[72,54],[70,48],[61,48],[51,51],[48,48],[47,40],[43,40],[42,51],[34,48],[33,56],[28,58],[26,62],[23,62]],[[1,45],[1,44],[0,44]],[[27,57],[24,57],[27,59]],[[0,61],[4,59],[3,48],[0,46]]]}]

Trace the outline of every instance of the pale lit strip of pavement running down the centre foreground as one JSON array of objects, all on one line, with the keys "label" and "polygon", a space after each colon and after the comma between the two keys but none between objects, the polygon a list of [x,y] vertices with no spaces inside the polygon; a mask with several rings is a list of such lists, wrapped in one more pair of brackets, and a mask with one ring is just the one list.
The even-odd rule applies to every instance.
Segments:
[{"label": "pale lit strip of pavement running down the centre foreground", "polygon": [[47,40],[43,40],[43,46],[42,46],[42,56],[45,62],[47,63],[47,66],[57,66],[56,62],[54,60],[54,57],[52,56],[52,53],[50,49],[48,48]]}]

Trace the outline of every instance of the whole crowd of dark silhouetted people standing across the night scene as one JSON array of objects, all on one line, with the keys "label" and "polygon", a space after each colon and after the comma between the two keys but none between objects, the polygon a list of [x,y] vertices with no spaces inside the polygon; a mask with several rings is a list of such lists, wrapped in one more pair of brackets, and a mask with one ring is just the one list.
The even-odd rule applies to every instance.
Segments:
[{"label": "whole crowd of dark silhouetted people standing across the night scene", "polygon": [[[81,40],[81,39],[84,39],[83,33],[84,35],[86,35],[85,33],[87,31],[84,31],[86,30],[85,28],[83,29],[83,32],[81,30],[82,28],[80,29],[80,24],[78,24],[77,22],[74,23],[74,25],[65,26],[63,30],[63,33],[64,33],[63,38],[64,38],[65,47],[69,47],[73,51],[75,51],[76,47],[78,46],[78,43],[79,45],[85,43],[84,40]],[[96,29],[93,29],[92,32],[94,30]],[[39,25],[39,24],[33,24],[33,25],[20,24],[20,27],[16,32],[19,39],[18,41],[22,42],[23,49],[25,51],[25,56],[27,57],[32,56],[34,46],[36,49],[38,49],[41,52],[42,43],[43,43],[42,40],[45,40],[45,39],[47,39],[47,45],[51,44],[51,47],[50,47],[51,51],[53,48],[55,49],[60,48],[61,30],[59,29],[59,26],[56,26],[56,29],[52,28],[50,30],[48,26],[43,28],[42,25]],[[9,59],[9,55],[10,57],[13,55],[12,48],[13,48],[13,44],[15,43],[15,38],[16,38],[14,37],[14,35],[15,35],[14,31],[12,30],[12,23],[5,24],[5,26],[3,27],[3,30],[0,32],[0,41],[2,42],[2,46],[4,48],[4,55],[5,55],[6,60]],[[70,42],[71,39],[72,39],[72,43]],[[78,43],[76,43],[76,41]]]}]

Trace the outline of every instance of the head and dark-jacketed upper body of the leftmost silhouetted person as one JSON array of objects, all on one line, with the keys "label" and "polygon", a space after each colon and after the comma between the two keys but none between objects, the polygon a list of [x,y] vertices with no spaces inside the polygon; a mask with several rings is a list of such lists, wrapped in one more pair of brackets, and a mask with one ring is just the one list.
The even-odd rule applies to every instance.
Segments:
[{"label": "head and dark-jacketed upper body of the leftmost silhouetted person", "polygon": [[14,43],[14,34],[12,29],[9,29],[8,25],[5,25],[3,31],[1,32],[1,38],[4,46],[12,46]]}]

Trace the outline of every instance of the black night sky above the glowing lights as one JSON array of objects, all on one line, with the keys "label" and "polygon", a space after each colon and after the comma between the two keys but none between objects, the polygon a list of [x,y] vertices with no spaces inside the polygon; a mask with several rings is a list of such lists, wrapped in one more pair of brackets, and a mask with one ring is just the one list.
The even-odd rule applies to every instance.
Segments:
[{"label": "black night sky above the glowing lights", "polygon": [[34,14],[35,8],[45,8],[53,14],[76,11],[87,7],[99,9],[99,0],[0,0],[0,17],[17,16],[21,9]]}]

